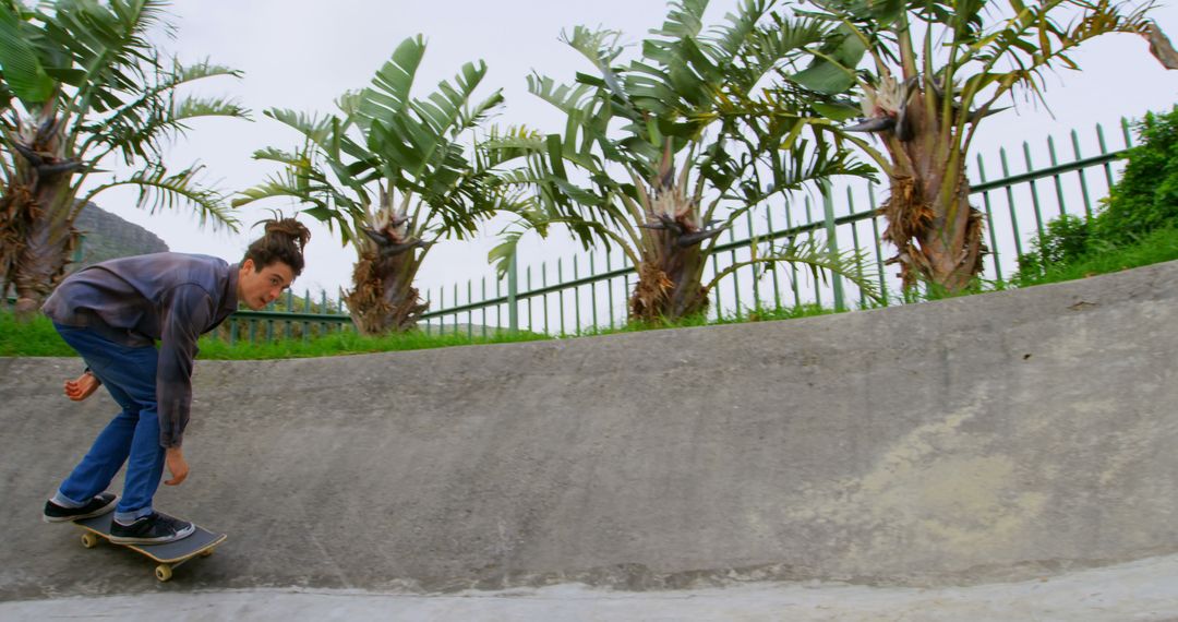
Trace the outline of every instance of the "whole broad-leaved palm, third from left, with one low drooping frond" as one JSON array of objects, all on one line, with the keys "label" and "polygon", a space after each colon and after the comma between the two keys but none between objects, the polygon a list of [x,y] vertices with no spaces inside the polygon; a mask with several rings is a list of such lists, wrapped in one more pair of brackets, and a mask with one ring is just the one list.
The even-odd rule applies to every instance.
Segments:
[{"label": "whole broad-leaved palm, third from left, with one low drooping frond", "polygon": [[[722,24],[703,28],[706,0],[671,2],[661,29],[623,62],[620,33],[577,27],[562,40],[583,54],[594,73],[573,85],[531,75],[529,91],[565,117],[563,134],[515,128],[494,143],[527,161],[505,176],[532,188],[518,227],[491,251],[499,271],[519,236],[562,225],[588,249],[618,246],[636,267],[629,297],[636,320],[676,320],[702,312],[709,292],[736,269],[796,262],[845,273],[873,291],[854,257],[832,256],[813,243],[759,247],[754,257],[704,283],[717,236],[774,194],[836,174],[871,174],[847,150],[827,140],[801,98],[790,114],[750,123],[742,102],[790,48],[747,53],[772,1],[747,0]],[[789,45],[828,37],[812,22]],[[748,59],[753,60],[748,60]],[[813,130],[813,131],[812,131]],[[809,138],[807,138],[809,137]]]}]

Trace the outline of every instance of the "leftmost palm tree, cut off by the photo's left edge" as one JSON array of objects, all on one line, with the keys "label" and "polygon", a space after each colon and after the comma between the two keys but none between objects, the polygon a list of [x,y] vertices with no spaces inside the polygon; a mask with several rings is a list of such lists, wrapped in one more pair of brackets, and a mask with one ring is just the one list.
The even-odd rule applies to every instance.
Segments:
[{"label": "leftmost palm tree, cut off by the photo's left edge", "polygon": [[[196,118],[245,117],[232,101],[177,94],[181,85],[240,74],[161,58],[146,34],[168,28],[164,6],[57,0],[27,9],[0,0],[0,292],[15,287],[21,318],[65,274],[73,223],[102,191],[135,186],[139,206],[152,212],[184,204],[201,224],[237,224],[224,197],[199,183],[200,166],[168,171],[161,143]],[[87,185],[118,157],[137,170]]]}]

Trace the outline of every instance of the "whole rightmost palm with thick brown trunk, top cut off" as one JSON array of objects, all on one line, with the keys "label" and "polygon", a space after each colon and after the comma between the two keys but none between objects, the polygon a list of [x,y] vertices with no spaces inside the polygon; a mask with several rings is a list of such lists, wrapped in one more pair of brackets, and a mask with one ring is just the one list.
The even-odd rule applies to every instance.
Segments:
[{"label": "whole rightmost palm with thick brown trunk, top cut off", "polygon": [[846,134],[888,176],[884,238],[899,250],[891,262],[900,264],[906,289],[925,282],[954,292],[981,272],[982,216],[969,205],[966,153],[980,121],[1005,110],[1005,97],[1041,97],[1045,70],[1077,68],[1068,54],[1106,33],[1141,34],[1159,60],[1178,64],[1145,16],[1152,2],[1136,9],[1108,0],[812,4],[816,11],[798,14],[835,26],[834,37],[809,48],[808,67],[783,74],[788,87],[820,93],[829,118],[865,118],[846,132],[882,141],[886,153]]}]

